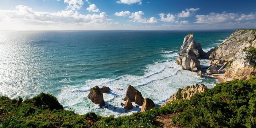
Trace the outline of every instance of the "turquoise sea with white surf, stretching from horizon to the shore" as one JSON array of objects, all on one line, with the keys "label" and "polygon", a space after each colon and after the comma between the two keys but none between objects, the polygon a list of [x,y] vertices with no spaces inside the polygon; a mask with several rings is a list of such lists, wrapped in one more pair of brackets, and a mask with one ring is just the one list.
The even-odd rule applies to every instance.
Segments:
[{"label": "turquoise sea with white surf, stretching from horizon to the shore", "polygon": [[[208,51],[232,32],[193,33],[195,41]],[[195,83],[211,88],[216,83],[181,70],[175,63],[188,33],[191,31],[0,32],[0,95],[25,99],[45,92],[56,96],[65,109],[80,114],[93,111],[118,116],[140,109],[128,111],[120,105],[130,84],[161,105],[178,88]],[[201,65],[208,62],[202,60]],[[95,85],[111,88],[104,100],[112,107],[101,109],[87,98]]]}]

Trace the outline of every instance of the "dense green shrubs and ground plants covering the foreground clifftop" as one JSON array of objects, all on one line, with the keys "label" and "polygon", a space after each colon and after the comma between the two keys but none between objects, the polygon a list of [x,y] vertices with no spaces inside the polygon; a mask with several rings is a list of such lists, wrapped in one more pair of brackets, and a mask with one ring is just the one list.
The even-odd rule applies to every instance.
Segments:
[{"label": "dense green shrubs and ground plants covering the foreground clifftop", "polygon": [[245,81],[216,84],[190,100],[178,100],[117,118],[95,113],[78,115],[74,111],[52,108],[50,104],[60,104],[55,97],[44,93],[21,101],[21,98],[12,100],[0,96],[0,127],[157,127],[155,116],[176,112],[179,114],[170,120],[181,127],[256,127],[255,76]]}]

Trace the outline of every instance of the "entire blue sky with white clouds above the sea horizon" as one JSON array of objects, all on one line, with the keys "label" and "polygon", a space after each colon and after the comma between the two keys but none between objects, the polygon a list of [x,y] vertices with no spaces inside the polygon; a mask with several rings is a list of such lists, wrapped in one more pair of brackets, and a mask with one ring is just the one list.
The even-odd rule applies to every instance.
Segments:
[{"label": "entire blue sky with white clouds above the sea horizon", "polygon": [[0,0],[0,30],[256,28],[256,0]]}]

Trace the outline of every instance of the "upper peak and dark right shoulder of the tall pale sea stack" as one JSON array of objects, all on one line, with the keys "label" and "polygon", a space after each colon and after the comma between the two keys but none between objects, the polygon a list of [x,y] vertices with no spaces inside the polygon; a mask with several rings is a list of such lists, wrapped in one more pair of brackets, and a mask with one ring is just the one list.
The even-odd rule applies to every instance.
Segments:
[{"label": "upper peak and dark right shoulder of the tall pale sea stack", "polygon": [[188,34],[184,37],[182,46],[180,47],[180,51],[178,52],[178,55],[184,56],[189,51],[193,51],[195,53],[196,58],[204,58],[204,51],[202,50],[201,44],[196,43],[194,40],[193,33]]}]

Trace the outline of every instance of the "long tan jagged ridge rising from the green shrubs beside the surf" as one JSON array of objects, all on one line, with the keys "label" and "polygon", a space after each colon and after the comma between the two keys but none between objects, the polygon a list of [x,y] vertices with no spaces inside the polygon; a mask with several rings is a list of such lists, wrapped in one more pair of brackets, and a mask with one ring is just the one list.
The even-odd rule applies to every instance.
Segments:
[{"label": "long tan jagged ridge rising from the green shrubs beside the surf", "polygon": [[179,88],[178,91],[175,92],[165,104],[175,100],[190,99],[191,96],[194,96],[195,94],[204,92],[206,90],[208,90],[208,88],[204,84],[196,84],[196,86],[192,85],[191,87],[187,86]]}]

